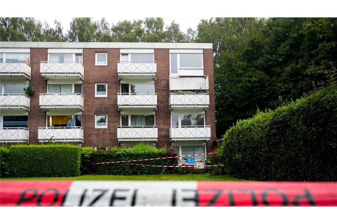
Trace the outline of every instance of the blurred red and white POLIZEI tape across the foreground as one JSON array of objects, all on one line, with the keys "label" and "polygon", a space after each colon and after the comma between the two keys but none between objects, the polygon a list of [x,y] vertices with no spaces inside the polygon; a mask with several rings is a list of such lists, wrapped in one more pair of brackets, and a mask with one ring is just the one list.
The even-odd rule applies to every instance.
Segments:
[{"label": "blurred red and white POLIZEI tape across the foreground", "polygon": [[0,206],[337,206],[337,182],[0,181]]}]

